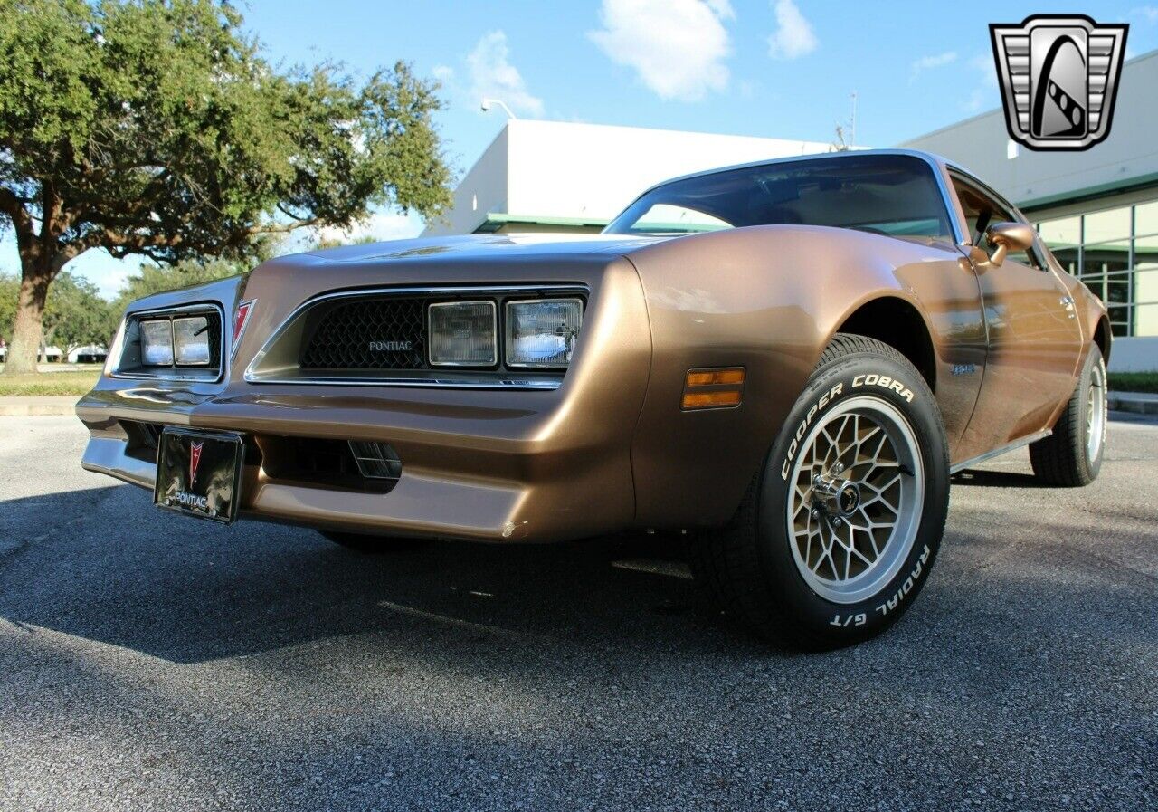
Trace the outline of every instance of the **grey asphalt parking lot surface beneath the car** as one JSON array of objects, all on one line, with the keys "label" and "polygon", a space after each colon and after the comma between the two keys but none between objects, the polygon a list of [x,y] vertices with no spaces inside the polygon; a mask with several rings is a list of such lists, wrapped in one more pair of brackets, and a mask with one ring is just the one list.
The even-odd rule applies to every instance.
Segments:
[{"label": "grey asphalt parking lot surface beneath the car", "polygon": [[1158,425],[1101,478],[960,477],[913,612],[822,656],[666,539],[367,557],[154,510],[0,418],[0,809],[1158,805]]}]

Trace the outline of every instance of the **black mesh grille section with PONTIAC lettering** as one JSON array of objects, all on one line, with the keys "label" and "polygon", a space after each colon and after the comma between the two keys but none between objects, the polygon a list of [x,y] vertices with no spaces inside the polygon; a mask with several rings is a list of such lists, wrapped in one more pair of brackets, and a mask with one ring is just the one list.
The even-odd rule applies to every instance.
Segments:
[{"label": "black mesh grille section with PONTIAC lettering", "polygon": [[426,300],[357,299],[312,314],[302,370],[426,370]]}]

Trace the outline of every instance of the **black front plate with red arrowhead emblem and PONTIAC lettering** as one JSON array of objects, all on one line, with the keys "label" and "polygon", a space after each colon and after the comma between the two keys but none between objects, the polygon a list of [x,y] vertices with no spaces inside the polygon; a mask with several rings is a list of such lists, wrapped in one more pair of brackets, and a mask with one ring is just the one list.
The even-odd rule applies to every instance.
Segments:
[{"label": "black front plate with red arrowhead emblem and PONTIAC lettering", "polygon": [[168,427],[156,455],[153,504],[229,524],[241,500],[241,434]]}]

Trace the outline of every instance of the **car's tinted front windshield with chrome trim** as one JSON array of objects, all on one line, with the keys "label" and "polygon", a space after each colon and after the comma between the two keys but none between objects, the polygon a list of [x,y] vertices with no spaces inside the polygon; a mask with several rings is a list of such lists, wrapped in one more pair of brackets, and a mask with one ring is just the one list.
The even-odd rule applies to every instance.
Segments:
[{"label": "car's tinted front windshield with chrome trim", "polygon": [[841,155],[698,175],[652,189],[604,234],[691,234],[742,226],[856,228],[948,240],[932,167],[911,155]]}]

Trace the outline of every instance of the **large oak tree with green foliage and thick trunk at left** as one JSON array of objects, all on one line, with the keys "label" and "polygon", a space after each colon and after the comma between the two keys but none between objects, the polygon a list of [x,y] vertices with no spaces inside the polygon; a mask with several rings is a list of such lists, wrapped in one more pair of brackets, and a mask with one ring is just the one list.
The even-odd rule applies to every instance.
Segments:
[{"label": "large oak tree with green foliage and thick trunk at left", "polygon": [[20,254],[7,372],[87,250],[243,258],[263,234],[449,203],[437,82],[281,70],[213,0],[0,0],[0,227]]}]

